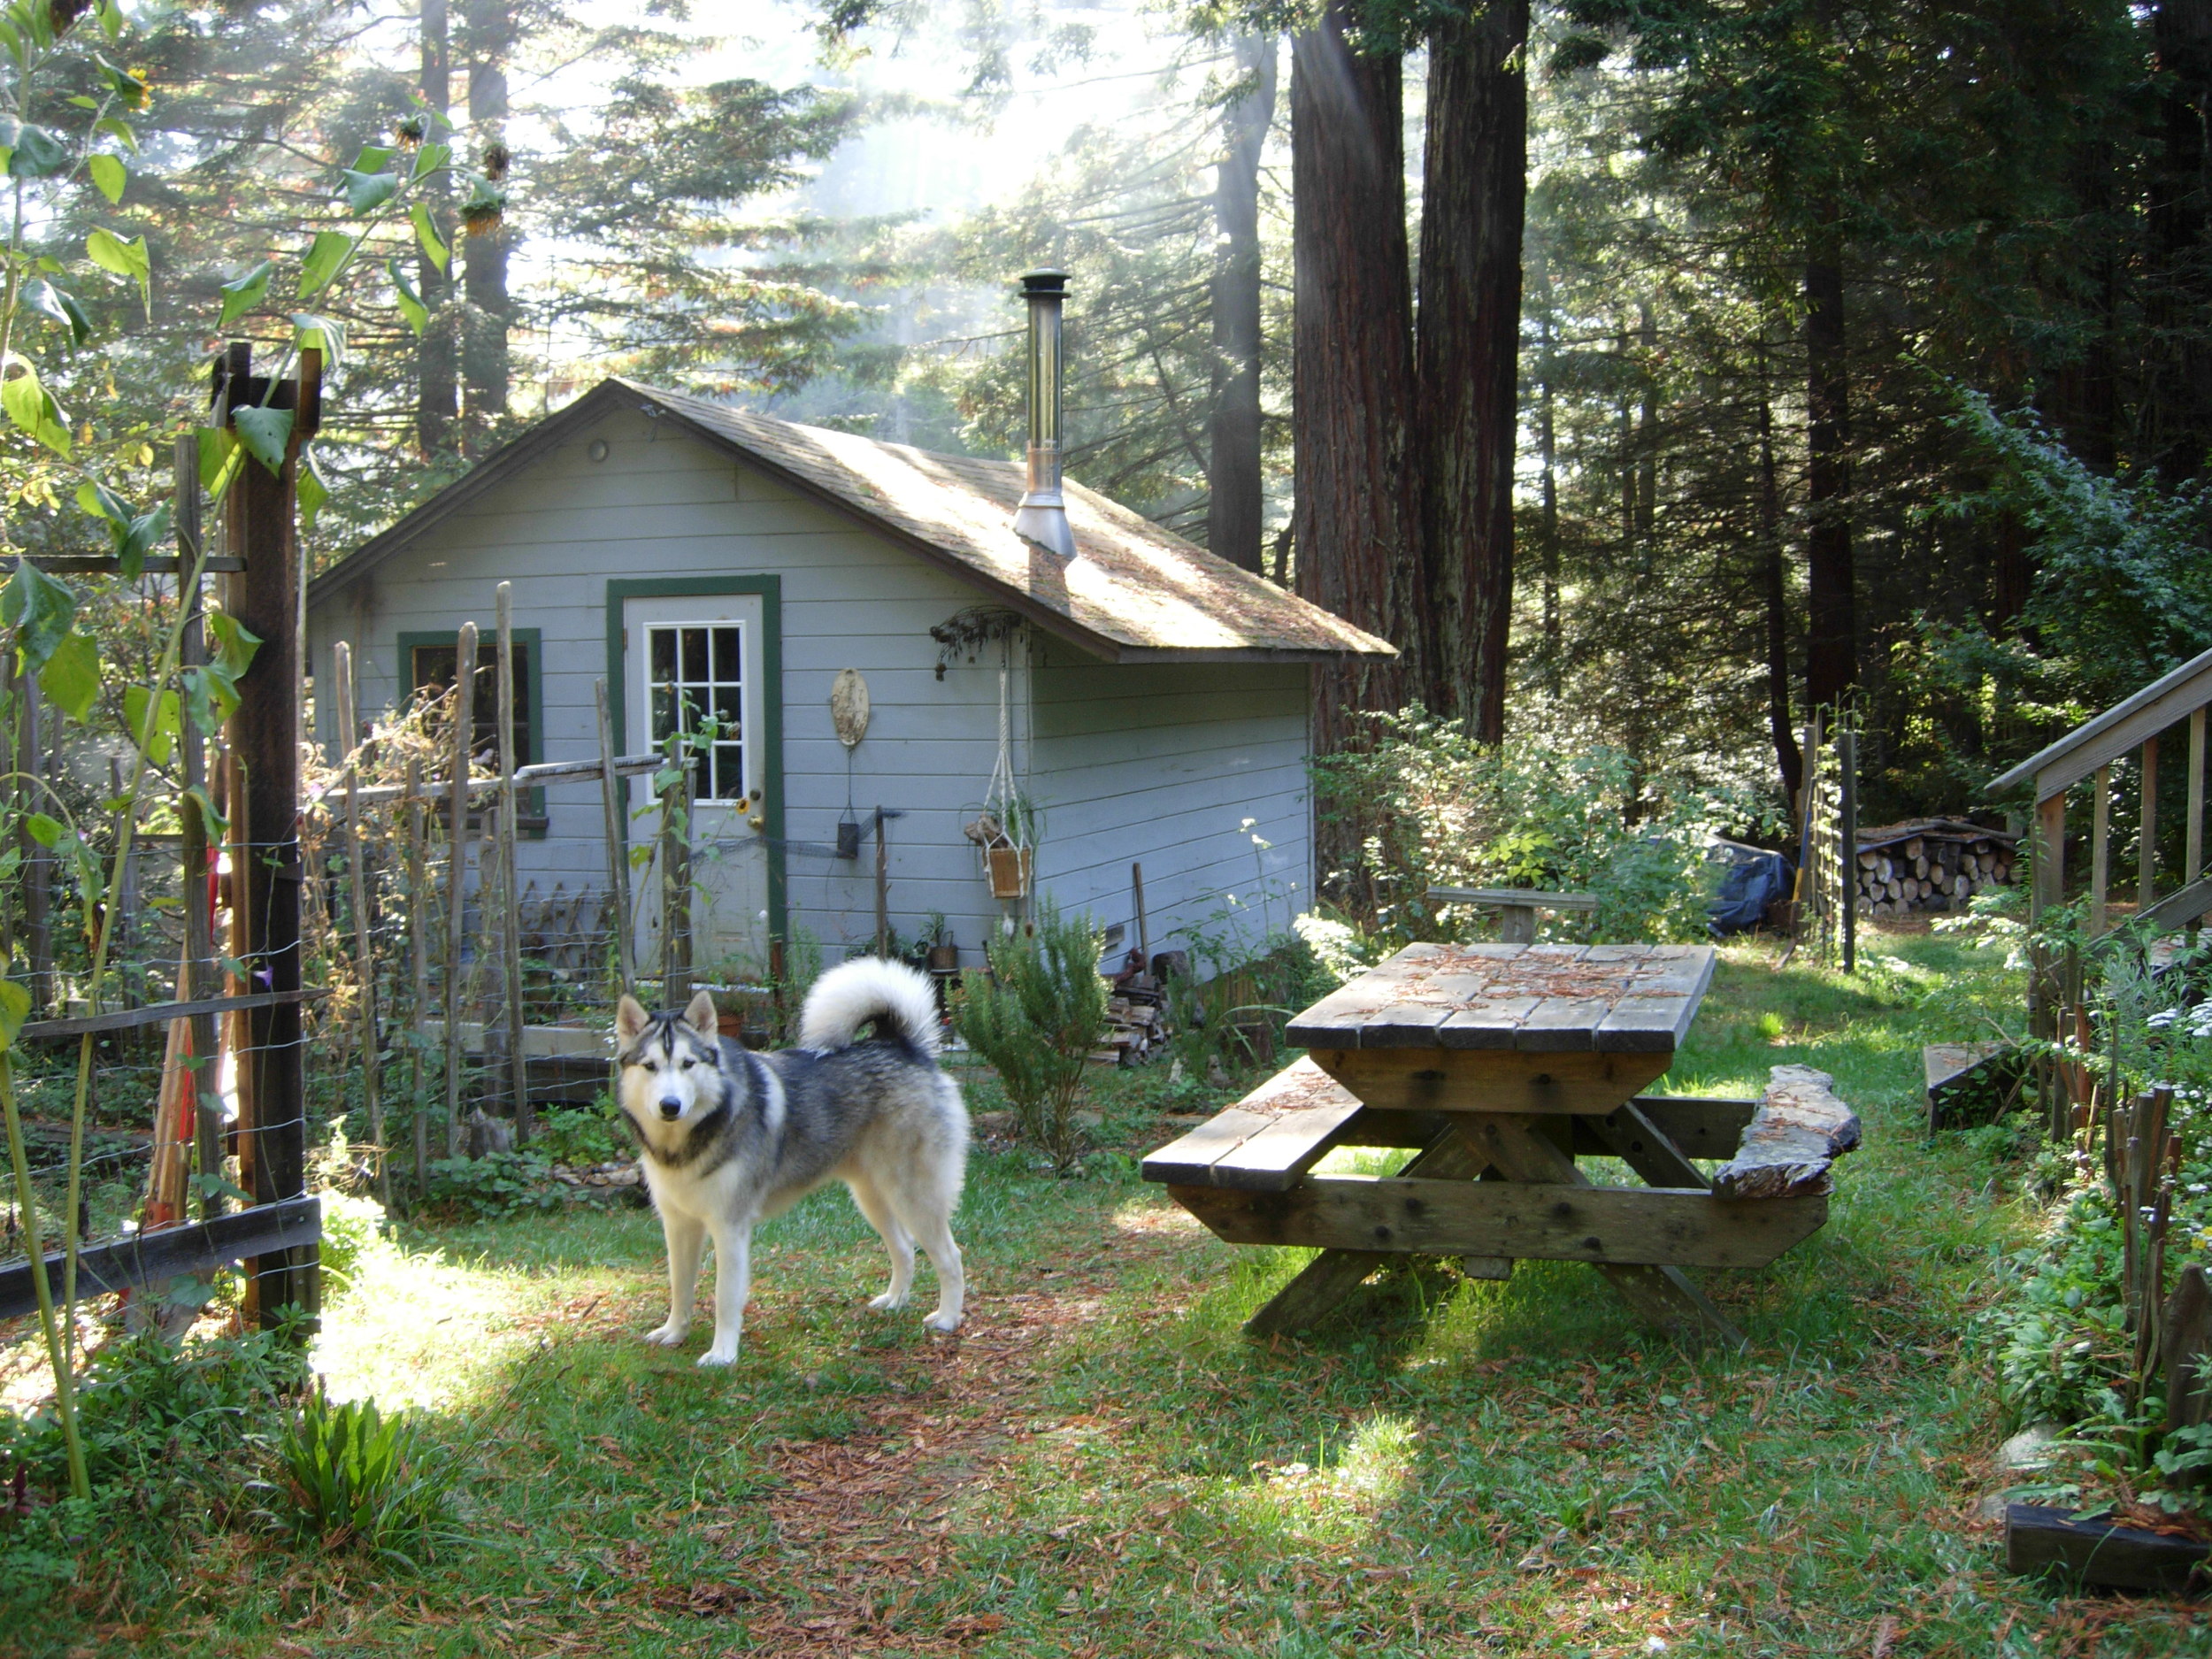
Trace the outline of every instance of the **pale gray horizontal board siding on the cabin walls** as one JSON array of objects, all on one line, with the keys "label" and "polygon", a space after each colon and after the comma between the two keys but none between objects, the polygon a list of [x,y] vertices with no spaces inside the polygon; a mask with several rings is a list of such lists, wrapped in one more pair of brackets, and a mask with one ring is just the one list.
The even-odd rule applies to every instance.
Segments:
[{"label": "pale gray horizontal board siding on the cabin walls", "polygon": [[[586,458],[606,438],[604,462]],[[538,628],[546,761],[597,754],[593,679],[606,672],[611,577],[779,575],[783,591],[783,792],[787,918],[825,945],[874,938],[874,847],[858,865],[825,856],[845,810],[845,750],[830,730],[830,681],[858,668],[874,719],[852,761],[856,814],[889,825],[891,922],[918,931],[945,911],[962,960],[1011,907],[991,900],[962,838],[998,750],[995,646],[936,677],[929,628],[982,595],[865,526],[706,445],[615,416],[526,476],[487,493],[310,615],[310,668],[352,639],[363,708],[403,690],[400,633],[473,619],[489,637],[493,588],[515,584],[515,626]],[[1102,922],[1128,922],[1128,867],[1146,867],[1152,945],[1250,905],[1261,874],[1270,925],[1312,891],[1303,666],[1115,666],[1035,639],[1013,650],[1015,765],[1044,807],[1040,887]],[[327,681],[325,681],[327,684]],[[316,699],[327,710],[327,697]],[[334,739],[319,734],[325,745]],[[1035,732],[1031,734],[1031,723]],[[551,894],[604,885],[597,783],[546,790],[551,827],[520,847],[524,883]],[[1254,818],[1254,830],[1241,830]],[[1256,916],[1252,927],[1256,927]],[[1135,929],[1130,929],[1135,942]]]}]

